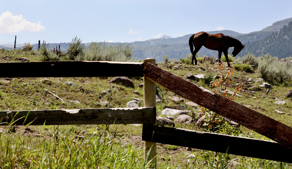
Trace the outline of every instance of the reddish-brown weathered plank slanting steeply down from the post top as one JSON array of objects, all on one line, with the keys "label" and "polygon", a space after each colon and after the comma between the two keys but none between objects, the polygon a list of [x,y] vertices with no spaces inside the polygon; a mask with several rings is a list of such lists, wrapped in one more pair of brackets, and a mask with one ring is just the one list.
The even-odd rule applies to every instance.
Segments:
[{"label": "reddish-brown weathered plank slanting steeply down from the post top", "polygon": [[146,65],[145,74],[147,78],[183,98],[236,121],[282,145],[292,148],[291,127],[152,64],[148,63]]}]

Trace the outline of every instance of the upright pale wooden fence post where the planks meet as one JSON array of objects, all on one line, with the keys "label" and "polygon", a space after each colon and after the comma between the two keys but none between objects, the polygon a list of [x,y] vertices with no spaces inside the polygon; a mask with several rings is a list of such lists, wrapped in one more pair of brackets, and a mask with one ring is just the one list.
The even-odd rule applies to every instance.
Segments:
[{"label": "upright pale wooden fence post where the planks meet", "polygon": [[[144,62],[144,68],[147,63],[151,63],[155,65],[155,59],[146,59]],[[156,107],[156,84],[146,78],[144,75],[144,107]],[[143,124],[144,125],[144,124]],[[153,125],[156,125],[153,124]],[[144,142],[144,156],[146,158],[147,152],[150,151],[148,156],[148,160],[153,159],[154,168],[156,168],[156,143],[145,141]]]}]

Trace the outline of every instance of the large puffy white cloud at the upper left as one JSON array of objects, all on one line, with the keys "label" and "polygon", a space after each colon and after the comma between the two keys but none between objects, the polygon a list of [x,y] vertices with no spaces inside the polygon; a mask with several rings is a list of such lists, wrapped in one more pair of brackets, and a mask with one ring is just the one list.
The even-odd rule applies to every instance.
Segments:
[{"label": "large puffy white cloud at the upper left", "polygon": [[32,23],[27,21],[22,15],[12,15],[6,11],[0,15],[0,33],[18,34],[20,32],[41,32],[46,30],[41,22]]}]

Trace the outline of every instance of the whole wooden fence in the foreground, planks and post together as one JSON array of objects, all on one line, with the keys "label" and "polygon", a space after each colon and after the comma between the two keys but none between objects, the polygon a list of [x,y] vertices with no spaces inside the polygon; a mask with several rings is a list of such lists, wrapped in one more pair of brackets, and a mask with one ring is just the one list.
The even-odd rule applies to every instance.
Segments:
[{"label": "whole wooden fence in the foreground, planks and post together", "polygon": [[[142,139],[145,141],[145,153],[150,151],[150,159],[154,158],[154,162],[158,142],[292,163],[291,127],[154,64],[155,59],[146,59],[143,63],[86,61],[0,63],[0,77],[144,76],[144,107],[20,111],[15,119],[25,117],[29,113],[26,122],[34,120],[31,125],[140,123],[143,124]],[[156,84],[276,142],[156,126]],[[9,122],[15,114],[16,111],[0,111],[0,119]],[[16,124],[22,125],[23,122],[18,120]]]}]

